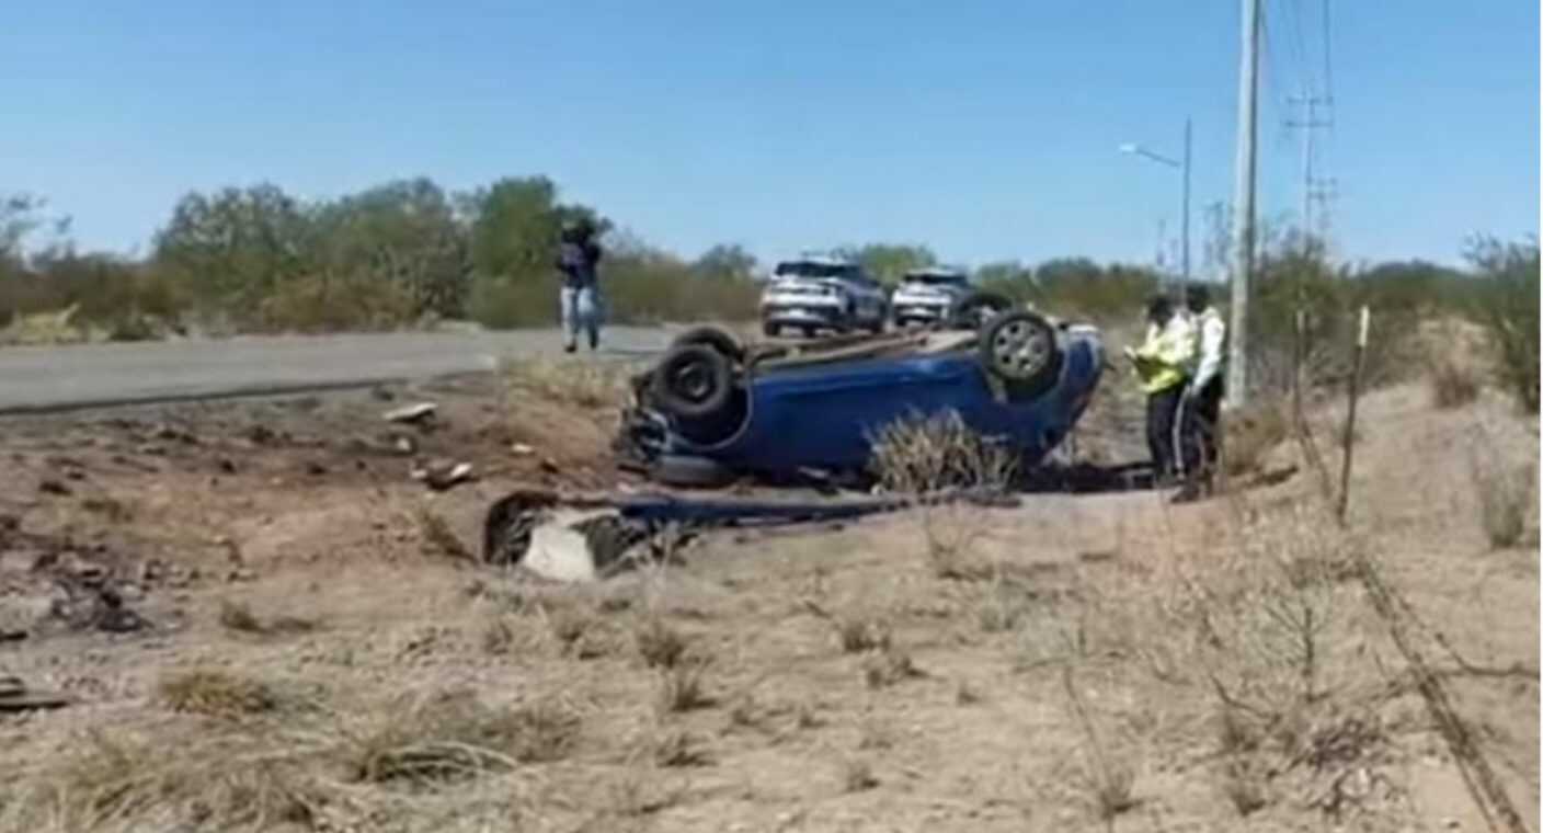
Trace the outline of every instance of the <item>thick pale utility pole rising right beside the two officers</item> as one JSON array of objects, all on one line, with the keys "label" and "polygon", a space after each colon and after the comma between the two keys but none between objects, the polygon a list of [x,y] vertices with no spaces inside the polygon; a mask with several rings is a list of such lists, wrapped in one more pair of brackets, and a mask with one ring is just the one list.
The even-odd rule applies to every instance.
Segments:
[{"label": "thick pale utility pole rising right beside the two officers", "polygon": [[1231,332],[1227,350],[1227,400],[1248,401],[1248,284],[1254,247],[1254,150],[1259,139],[1259,0],[1242,0],[1242,59],[1237,74],[1237,168],[1233,214]]}]

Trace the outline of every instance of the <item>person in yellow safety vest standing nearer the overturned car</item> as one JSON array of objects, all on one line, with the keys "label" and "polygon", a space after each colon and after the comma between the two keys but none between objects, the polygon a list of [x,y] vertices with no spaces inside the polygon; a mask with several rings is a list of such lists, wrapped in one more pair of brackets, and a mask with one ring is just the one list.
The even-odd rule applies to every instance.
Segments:
[{"label": "person in yellow safety vest standing nearer the overturned car", "polygon": [[1146,393],[1146,447],[1153,460],[1154,484],[1177,475],[1176,416],[1188,383],[1190,359],[1194,355],[1194,329],[1188,316],[1174,310],[1167,296],[1146,304],[1146,341],[1125,349],[1136,369],[1142,392]]}]

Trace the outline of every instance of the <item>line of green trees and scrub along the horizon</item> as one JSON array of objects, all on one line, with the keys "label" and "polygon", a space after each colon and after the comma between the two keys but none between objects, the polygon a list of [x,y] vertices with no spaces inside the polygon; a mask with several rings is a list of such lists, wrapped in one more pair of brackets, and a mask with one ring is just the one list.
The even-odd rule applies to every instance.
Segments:
[{"label": "line of green trees and scrub along the horizon", "polygon": [[[761,287],[744,247],[682,258],[620,228],[594,207],[560,199],[546,177],[506,177],[451,193],[401,179],[336,199],[301,199],[273,184],[185,194],[143,258],[82,251],[68,224],[48,222],[31,196],[0,196],[0,330],[32,313],[71,310],[102,338],[204,332],[330,332],[471,319],[488,327],[557,318],[552,268],[559,228],[586,218],[603,234],[606,315],[614,322],[751,319]],[[1298,310],[1313,346],[1345,342],[1359,304],[1378,312],[1386,353],[1373,370],[1409,364],[1418,322],[1460,316],[1494,335],[1521,395],[1537,401],[1537,239],[1470,241],[1467,268],[1421,261],[1335,264],[1312,239],[1262,233],[1251,350],[1256,376],[1288,364]],[[927,245],[838,247],[880,281],[938,265]],[[1214,264],[1225,270],[1225,262]],[[1171,276],[1137,264],[1052,258],[991,262],[977,287],[1099,322],[1139,322]],[[1225,304],[1225,285],[1217,285]],[[1316,355],[1316,353],[1315,353]],[[1336,356],[1327,350],[1325,356]],[[1336,359],[1322,359],[1333,366]],[[1332,373],[1330,373],[1332,375]]]}]

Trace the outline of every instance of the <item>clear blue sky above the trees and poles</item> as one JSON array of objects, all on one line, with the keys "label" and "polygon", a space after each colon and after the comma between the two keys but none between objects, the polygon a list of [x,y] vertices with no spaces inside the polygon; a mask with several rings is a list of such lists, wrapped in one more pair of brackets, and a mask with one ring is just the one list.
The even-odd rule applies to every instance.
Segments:
[{"label": "clear blue sky above the trees and poles", "polygon": [[[1333,5],[1344,258],[1455,262],[1538,227],[1538,5]],[[193,188],[313,197],[551,176],[651,242],[762,258],[926,242],[949,261],[1151,261],[1231,197],[1236,0],[731,3],[51,0],[0,28],[0,191],[143,251]],[[1261,207],[1295,216],[1287,96],[1324,91],[1322,0],[1264,0]]]}]

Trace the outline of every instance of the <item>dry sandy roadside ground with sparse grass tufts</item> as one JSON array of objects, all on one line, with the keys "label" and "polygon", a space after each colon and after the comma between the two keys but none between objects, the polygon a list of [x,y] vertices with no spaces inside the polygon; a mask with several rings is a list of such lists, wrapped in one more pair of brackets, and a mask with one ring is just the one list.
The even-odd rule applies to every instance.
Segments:
[{"label": "dry sandy roadside ground with sparse grass tufts", "polygon": [[[1083,454],[1137,454],[1109,396]],[[1491,546],[1470,477],[1538,427],[1498,398],[1369,396],[1347,531],[1287,446],[1196,506],[722,532],[589,588],[463,558],[505,489],[616,481],[600,400],[3,423],[0,676],[74,703],[0,714],[0,830],[1484,830],[1353,554],[1538,827],[1537,520]]]}]

